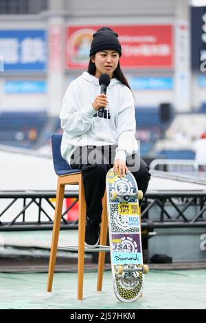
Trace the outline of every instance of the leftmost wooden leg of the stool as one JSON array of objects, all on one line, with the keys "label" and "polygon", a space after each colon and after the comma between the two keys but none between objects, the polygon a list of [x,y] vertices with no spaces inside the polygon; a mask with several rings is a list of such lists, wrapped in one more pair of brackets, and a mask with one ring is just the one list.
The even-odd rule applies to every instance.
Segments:
[{"label": "leftmost wooden leg of the stool", "polygon": [[47,291],[52,291],[52,282],[54,277],[54,267],[56,263],[56,250],[57,250],[58,236],[60,231],[60,221],[62,216],[62,204],[64,199],[64,193],[65,193],[65,186],[61,185],[58,179],[54,226],[53,226],[53,232],[52,232],[52,247],[51,247],[50,259],[49,259],[49,276],[48,276],[48,282],[47,282]]}]

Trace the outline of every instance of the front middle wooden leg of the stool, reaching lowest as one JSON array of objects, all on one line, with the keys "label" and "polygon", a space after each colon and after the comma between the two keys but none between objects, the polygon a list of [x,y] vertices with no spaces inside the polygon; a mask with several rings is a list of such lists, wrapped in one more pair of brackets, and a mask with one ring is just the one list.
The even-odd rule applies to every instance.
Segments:
[{"label": "front middle wooden leg of the stool, reaching lowest", "polygon": [[78,218],[78,300],[83,298],[84,278],[84,242],[86,226],[86,202],[84,197],[84,186],[79,183],[79,218]]}]

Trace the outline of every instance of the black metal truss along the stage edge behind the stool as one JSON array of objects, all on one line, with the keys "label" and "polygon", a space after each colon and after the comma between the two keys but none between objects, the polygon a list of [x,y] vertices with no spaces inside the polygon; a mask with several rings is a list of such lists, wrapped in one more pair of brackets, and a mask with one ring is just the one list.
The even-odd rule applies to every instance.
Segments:
[{"label": "black metal truss along the stage edge behind the stool", "polygon": [[[0,231],[52,230],[55,203],[51,199],[55,197],[56,191],[0,192]],[[62,213],[61,230],[78,229],[78,220],[67,220],[67,212],[78,202],[78,191],[65,191],[65,198],[69,197],[74,201]],[[142,230],[150,232],[161,227],[206,227],[205,191],[148,191],[141,220]]]}]

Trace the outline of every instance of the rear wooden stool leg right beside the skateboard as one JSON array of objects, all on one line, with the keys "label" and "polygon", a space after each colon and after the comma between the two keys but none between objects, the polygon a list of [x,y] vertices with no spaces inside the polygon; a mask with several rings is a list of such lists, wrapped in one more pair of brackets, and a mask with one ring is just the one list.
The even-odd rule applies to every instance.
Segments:
[{"label": "rear wooden stool leg right beside the skateboard", "polygon": [[[106,191],[105,191],[104,199],[103,199],[100,245],[106,245],[107,229],[108,229],[108,219],[107,219],[107,205],[106,205]],[[104,274],[104,259],[105,259],[105,252],[99,252],[98,285],[97,285],[98,291],[102,291],[102,280],[103,280],[103,274]]]}]

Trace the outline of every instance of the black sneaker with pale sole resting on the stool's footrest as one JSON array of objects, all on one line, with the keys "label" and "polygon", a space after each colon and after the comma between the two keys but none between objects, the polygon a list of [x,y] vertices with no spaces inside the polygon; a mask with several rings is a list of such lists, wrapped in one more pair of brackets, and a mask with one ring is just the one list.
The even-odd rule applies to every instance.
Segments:
[{"label": "black sneaker with pale sole resting on the stool's footrest", "polygon": [[90,219],[87,219],[86,231],[85,231],[85,247],[95,248],[100,241],[99,224],[93,223]]}]

